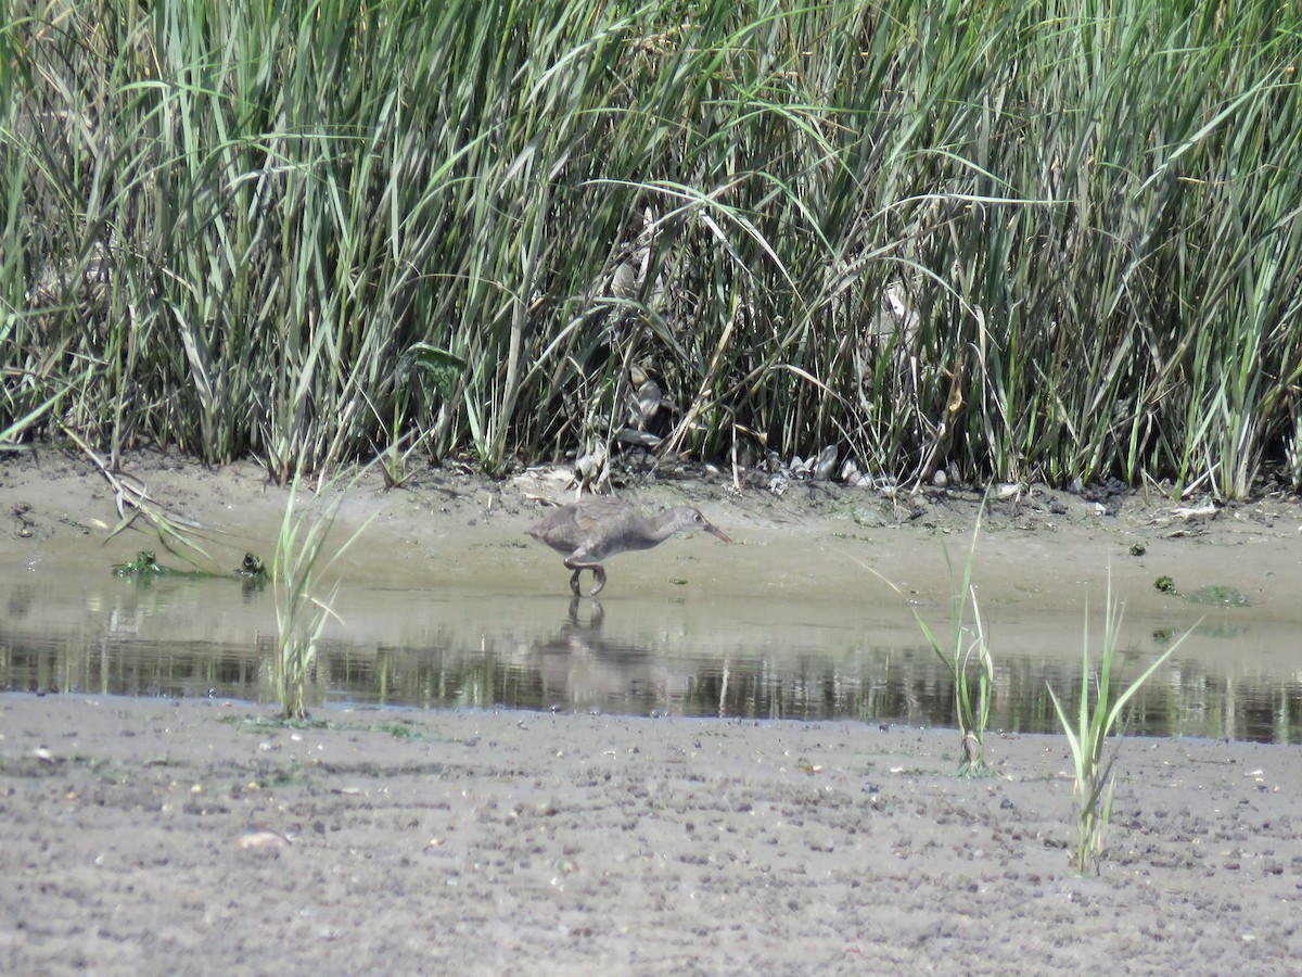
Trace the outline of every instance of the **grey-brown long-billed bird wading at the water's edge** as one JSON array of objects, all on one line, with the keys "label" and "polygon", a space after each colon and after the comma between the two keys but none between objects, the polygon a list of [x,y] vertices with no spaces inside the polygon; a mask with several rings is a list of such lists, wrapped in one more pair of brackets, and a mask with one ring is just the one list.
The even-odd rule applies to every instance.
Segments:
[{"label": "grey-brown long-billed bird wading at the water's edge", "polygon": [[682,529],[703,529],[725,543],[732,542],[700,515],[700,509],[677,505],[647,518],[629,503],[608,495],[592,495],[561,505],[525,531],[565,558],[566,569],[574,571],[570,590],[575,594],[581,593],[579,576],[586,569],[592,571],[595,582],[589,597],[596,597],[605,586],[602,561],[607,556],[628,550],[650,550]]}]

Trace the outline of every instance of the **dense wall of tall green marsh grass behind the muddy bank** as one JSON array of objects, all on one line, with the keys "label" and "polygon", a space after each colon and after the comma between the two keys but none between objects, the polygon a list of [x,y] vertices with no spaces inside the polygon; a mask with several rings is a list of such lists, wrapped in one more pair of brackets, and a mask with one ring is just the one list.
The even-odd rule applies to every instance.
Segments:
[{"label": "dense wall of tall green marsh grass behind the muddy bank", "polygon": [[617,451],[637,367],[742,465],[1295,452],[1297,5],[10,7],[0,440],[500,472]]}]

